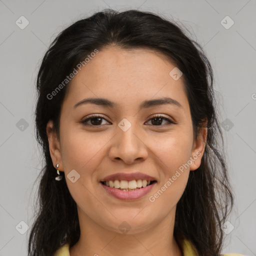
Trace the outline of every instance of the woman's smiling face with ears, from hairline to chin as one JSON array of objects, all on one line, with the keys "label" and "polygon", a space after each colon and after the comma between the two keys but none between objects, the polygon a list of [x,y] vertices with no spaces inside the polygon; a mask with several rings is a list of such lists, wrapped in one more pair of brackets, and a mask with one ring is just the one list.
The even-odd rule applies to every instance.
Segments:
[{"label": "woman's smiling face with ears, from hairline to chin", "polygon": [[[108,47],[72,79],[61,107],[60,140],[49,133],[48,137],[53,164],[59,163],[65,173],[79,219],[119,233],[125,225],[129,233],[136,233],[164,218],[174,221],[189,171],[200,165],[204,142],[193,141],[183,77],[177,79],[176,69],[170,73],[173,68],[150,50]],[[111,105],[104,100],[77,105],[88,98],[102,98]],[[173,101],[163,103],[163,98]],[[100,118],[88,119],[92,115]],[[132,176],[135,172],[152,178]],[[117,173],[127,176],[110,180],[124,180],[123,187],[141,186],[140,181],[127,182],[134,179],[156,182],[136,191],[100,182]]]}]

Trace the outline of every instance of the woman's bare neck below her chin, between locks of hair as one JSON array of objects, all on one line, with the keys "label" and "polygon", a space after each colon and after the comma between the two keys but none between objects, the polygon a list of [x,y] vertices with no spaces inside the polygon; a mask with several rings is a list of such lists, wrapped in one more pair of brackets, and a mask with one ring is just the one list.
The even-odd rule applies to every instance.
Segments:
[{"label": "woman's bare neck below her chin, between locks of hair", "polygon": [[173,236],[175,209],[150,227],[131,228],[126,233],[112,231],[106,224],[99,225],[82,214],[78,212],[81,232],[77,243],[69,248],[70,256],[183,256]]}]

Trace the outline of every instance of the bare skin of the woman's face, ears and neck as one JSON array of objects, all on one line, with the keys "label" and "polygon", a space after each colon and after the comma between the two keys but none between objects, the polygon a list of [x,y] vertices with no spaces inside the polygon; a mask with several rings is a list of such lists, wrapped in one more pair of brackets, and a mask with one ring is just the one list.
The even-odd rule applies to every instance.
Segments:
[{"label": "bare skin of the woman's face, ears and neck", "polygon": [[[72,79],[61,107],[59,140],[52,122],[47,123],[52,164],[59,163],[58,169],[64,171],[77,204],[81,235],[69,248],[71,256],[182,255],[173,236],[176,204],[189,171],[196,171],[200,165],[207,130],[202,128],[198,139],[193,140],[182,76],[174,80],[169,75],[174,67],[164,55],[152,50],[108,46]],[[144,100],[166,96],[182,107],[162,104],[138,109]],[[88,103],[73,108],[88,97],[107,98],[117,107]],[[92,123],[88,120],[90,126],[80,123],[91,114],[100,114],[105,119],[94,119]],[[162,119],[157,125],[151,119],[154,114],[162,114],[175,123],[168,125]],[[118,126],[123,118],[131,123],[126,131]],[[156,193],[189,157],[194,159],[196,152],[197,157],[189,167],[154,202],[149,201],[149,195]],[[66,176],[72,169],[80,175],[74,183]],[[114,198],[99,184],[106,175],[132,170],[158,181],[140,199]],[[130,226],[127,233],[118,228],[123,221]]]}]

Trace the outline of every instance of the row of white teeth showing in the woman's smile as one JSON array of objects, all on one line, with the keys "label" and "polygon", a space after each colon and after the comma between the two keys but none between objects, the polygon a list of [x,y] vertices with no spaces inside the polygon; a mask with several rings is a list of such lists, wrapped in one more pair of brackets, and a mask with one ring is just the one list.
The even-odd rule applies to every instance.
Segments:
[{"label": "row of white teeth showing in the woman's smile", "polygon": [[105,181],[104,184],[110,187],[119,188],[119,189],[136,189],[140,187],[145,187],[149,185],[150,180],[138,179],[138,180],[109,180]]}]

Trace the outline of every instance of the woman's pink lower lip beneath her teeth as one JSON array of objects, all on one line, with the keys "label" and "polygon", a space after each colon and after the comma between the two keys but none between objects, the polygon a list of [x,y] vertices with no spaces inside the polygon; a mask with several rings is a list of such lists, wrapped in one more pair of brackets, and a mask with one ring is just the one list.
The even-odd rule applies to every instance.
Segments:
[{"label": "woman's pink lower lip beneath her teeth", "polygon": [[132,191],[132,190],[131,191],[122,191],[122,190],[119,190],[114,187],[103,185],[101,182],[99,182],[99,183],[109,194],[111,194],[115,198],[118,198],[121,200],[126,200],[126,201],[136,200],[136,199],[141,198],[143,195],[147,194],[152,189],[152,187],[156,184],[156,182],[154,182],[151,185],[141,187],[134,191]]}]

